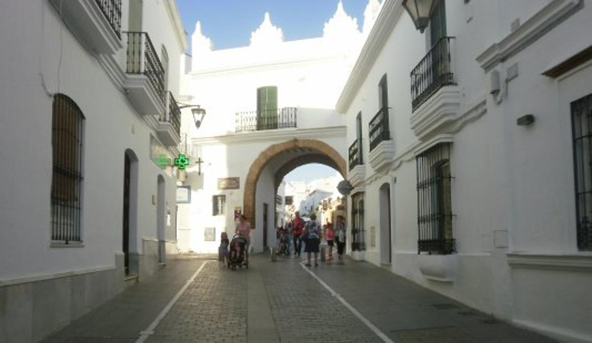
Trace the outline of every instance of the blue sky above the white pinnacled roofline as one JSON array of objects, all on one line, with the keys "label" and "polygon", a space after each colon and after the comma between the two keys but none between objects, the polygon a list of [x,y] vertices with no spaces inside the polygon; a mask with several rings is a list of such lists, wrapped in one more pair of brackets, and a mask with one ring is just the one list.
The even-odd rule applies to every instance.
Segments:
[{"label": "blue sky above the white pinnacled roofline", "polygon": [[[320,37],[323,24],[333,16],[338,0],[177,0],[181,20],[191,34],[195,22],[210,37],[215,49],[249,45],[251,31],[259,27],[266,11],[274,25],[282,28],[285,40]],[[367,0],[343,0],[343,8],[363,24]]]}]

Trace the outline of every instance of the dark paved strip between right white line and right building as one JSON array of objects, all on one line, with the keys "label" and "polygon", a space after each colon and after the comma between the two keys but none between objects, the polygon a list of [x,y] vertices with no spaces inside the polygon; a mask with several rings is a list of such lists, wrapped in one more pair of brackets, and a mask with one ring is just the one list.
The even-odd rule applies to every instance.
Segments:
[{"label": "dark paved strip between right white line and right building", "polygon": [[369,263],[333,261],[313,271],[394,342],[554,342]]}]

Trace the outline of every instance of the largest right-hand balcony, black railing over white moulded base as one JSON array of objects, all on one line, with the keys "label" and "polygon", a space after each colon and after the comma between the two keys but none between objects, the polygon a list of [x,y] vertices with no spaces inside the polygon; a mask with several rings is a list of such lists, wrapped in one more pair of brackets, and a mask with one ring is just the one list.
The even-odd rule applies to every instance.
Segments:
[{"label": "largest right-hand balcony, black railing over white moulded base", "polygon": [[411,130],[423,139],[459,119],[461,92],[453,73],[454,37],[443,37],[411,72]]}]

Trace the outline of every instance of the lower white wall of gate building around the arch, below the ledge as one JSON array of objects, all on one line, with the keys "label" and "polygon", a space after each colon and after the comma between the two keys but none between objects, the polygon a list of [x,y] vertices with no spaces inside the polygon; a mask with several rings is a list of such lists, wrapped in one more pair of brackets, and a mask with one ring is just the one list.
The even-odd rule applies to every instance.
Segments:
[{"label": "lower white wall of gate building around the arch, below the ledge", "polygon": [[[300,137],[308,130],[291,130],[280,134],[278,137],[269,137],[269,132],[263,132],[265,137],[253,138],[252,133],[226,135],[218,137],[215,140],[207,138],[206,140],[194,140],[196,153],[205,161],[201,167],[201,175],[198,175],[198,167],[193,166],[187,171],[186,185],[191,185],[192,196],[191,204],[179,204],[179,216],[190,216],[190,220],[180,218],[179,221],[185,226],[179,226],[182,229],[185,237],[190,237],[189,243],[181,244],[188,250],[197,251],[201,253],[215,253],[220,244],[221,230],[226,229],[229,232],[234,232],[233,211],[235,207],[243,209],[244,196],[244,182],[249,167],[258,158],[261,151],[276,143],[283,143],[292,140],[294,137]],[[315,138],[324,143],[329,144],[334,148],[339,148],[345,144],[343,131],[328,132],[322,136],[313,136],[308,138]],[[344,157],[345,158],[345,157]],[[270,161],[269,165],[263,169],[256,189],[255,215],[256,227],[253,232],[254,244],[256,251],[261,251],[263,247],[263,234],[260,226],[262,225],[263,203],[269,205],[268,218],[268,245],[271,246],[275,242],[275,228],[274,228],[274,183],[275,172],[287,161],[288,157],[278,157]],[[240,189],[219,190],[218,178],[224,177],[239,177]],[[289,193],[287,193],[289,194]],[[226,195],[226,215],[212,216],[212,196]],[[298,200],[295,196],[295,201]],[[304,200],[304,198],[303,198]],[[216,228],[216,241],[204,242],[203,230],[205,227]],[[189,234],[186,230],[191,231]]]}]

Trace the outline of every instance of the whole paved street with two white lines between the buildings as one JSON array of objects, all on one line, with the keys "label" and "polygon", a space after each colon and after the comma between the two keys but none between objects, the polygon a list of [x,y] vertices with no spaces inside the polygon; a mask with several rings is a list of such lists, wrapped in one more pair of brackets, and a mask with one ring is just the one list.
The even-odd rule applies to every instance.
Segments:
[{"label": "whole paved street with two white lines between the buildings", "polygon": [[383,268],[304,258],[172,261],[44,342],[551,342]]}]

